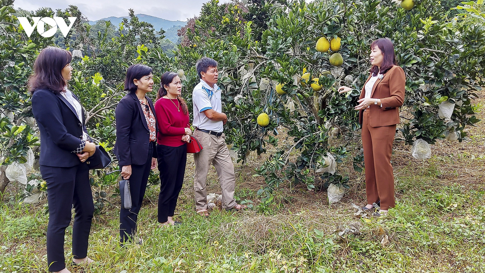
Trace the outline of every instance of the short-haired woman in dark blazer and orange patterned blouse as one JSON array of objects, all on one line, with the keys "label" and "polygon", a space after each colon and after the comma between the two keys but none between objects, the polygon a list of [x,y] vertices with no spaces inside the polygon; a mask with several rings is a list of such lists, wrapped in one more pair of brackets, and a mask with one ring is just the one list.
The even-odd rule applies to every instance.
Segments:
[{"label": "short-haired woman in dark blazer and orange patterned blouse", "polygon": [[[128,68],[125,90],[129,94],[116,106],[114,154],[121,176],[129,180],[131,209],[120,211],[120,242],[133,239],[138,213],[145,196],[150,169],[157,168],[157,120],[153,102],[146,93],[153,90],[152,68],[138,64]],[[141,243],[141,239],[138,239]]]}]

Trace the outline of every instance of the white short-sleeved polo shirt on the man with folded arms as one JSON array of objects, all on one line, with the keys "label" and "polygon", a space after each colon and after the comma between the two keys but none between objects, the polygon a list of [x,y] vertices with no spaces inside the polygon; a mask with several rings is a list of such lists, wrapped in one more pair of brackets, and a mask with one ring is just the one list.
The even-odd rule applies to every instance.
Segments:
[{"label": "white short-sleeved polo shirt on the man with folded arms", "polygon": [[218,133],[223,131],[224,122],[222,120],[210,120],[203,113],[203,111],[208,109],[222,113],[221,92],[219,86],[214,84],[212,88],[202,79],[198,85],[195,85],[194,92],[192,93],[192,102],[194,103],[193,125],[195,127]]}]

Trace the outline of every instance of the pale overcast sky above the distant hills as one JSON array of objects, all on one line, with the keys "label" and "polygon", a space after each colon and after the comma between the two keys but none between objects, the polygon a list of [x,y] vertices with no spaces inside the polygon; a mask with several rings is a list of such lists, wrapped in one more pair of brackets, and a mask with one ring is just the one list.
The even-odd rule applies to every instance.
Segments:
[{"label": "pale overcast sky above the distant hills", "polygon": [[[106,17],[128,16],[128,9],[135,14],[146,14],[163,19],[186,21],[199,15],[202,4],[208,0],[15,0],[14,6],[26,10],[41,7],[65,9],[69,5],[78,6],[84,16],[96,21]],[[227,2],[221,0],[220,2]]]}]

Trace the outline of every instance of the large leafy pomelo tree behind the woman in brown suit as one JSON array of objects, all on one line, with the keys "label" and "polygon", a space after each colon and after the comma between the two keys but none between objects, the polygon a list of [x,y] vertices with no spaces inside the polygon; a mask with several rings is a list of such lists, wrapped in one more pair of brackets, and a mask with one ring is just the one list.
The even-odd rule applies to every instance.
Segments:
[{"label": "large leafy pomelo tree behind the woman in brown suit", "polygon": [[[453,134],[461,141],[465,126],[478,121],[472,100],[483,85],[485,28],[448,17],[437,1],[266,1],[219,4],[210,1],[182,37],[175,67],[186,70],[185,85],[198,81],[194,64],[201,56],[219,62],[227,142],[244,160],[247,151],[277,149],[258,170],[267,192],[281,182],[305,183],[308,189],[348,178],[328,172],[329,154],[341,162],[358,144],[357,112],[353,110],[369,75],[371,42],[390,38],[406,73],[406,98],[399,138],[430,144]],[[316,48],[321,37],[325,46]],[[328,51],[341,39],[337,52]],[[320,52],[320,51],[324,52]],[[343,64],[332,58],[340,54]],[[333,64],[333,65],[332,65]],[[305,79],[302,82],[304,73]],[[313,79],[307,81],[307,78]],[[316,81],[318,80],[318,85]],[[312,88],[312,84],[313,87]],[[281,91],[276,86],[282,86]],[[336,89],[355,89],[344,96]],[[281,95],[279,95],[279,94]],[[453,114],[443,117],[443,102]],[[261,113],[268,126],[257,124]],[[292,145],[279,145],[273,135],[286,131]],[[293,152],[297,155],[293,156]],[[356,154],[359,170],[362,154]],[[338,166],[338,164],[337,164]]]}]

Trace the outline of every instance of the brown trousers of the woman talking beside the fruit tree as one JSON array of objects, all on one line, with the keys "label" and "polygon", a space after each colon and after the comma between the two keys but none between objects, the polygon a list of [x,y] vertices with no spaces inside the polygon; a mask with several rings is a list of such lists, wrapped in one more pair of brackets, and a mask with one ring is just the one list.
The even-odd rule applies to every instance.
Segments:
[{"label": "brown trousers of the woman talking beside the fruit tree", "polygon": [[392,142],[396,125],[371,127],[369,112],[362,119],[362,146],[364,147],[365,188],[367,204],[381,201],[381,209],[394,207],[394,174],[392,171]]}]

